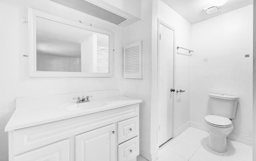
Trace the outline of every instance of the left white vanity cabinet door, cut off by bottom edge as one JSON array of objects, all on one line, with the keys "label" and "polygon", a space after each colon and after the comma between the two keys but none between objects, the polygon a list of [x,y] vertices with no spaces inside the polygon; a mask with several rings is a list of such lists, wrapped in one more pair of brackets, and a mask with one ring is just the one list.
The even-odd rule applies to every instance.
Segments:
[{"label": "left white vanity cabinet door, cut off by bottom edge", "polygon": [[69,139],[18,155],[14,161],[69,161]]}]

